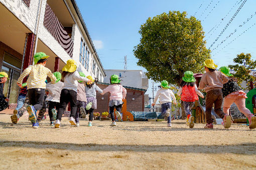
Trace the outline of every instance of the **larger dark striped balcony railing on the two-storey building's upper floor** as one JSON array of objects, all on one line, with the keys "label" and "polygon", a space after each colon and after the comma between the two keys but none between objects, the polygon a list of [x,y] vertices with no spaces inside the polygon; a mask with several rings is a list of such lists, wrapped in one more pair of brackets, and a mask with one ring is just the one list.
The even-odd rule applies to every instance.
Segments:
[{"label": "larger dark striped balcony railing on the two-storey building's upper floor", "polygon": [[72,57],[74,42],[64,29],[49,4],[46,4],[44,26]]}]

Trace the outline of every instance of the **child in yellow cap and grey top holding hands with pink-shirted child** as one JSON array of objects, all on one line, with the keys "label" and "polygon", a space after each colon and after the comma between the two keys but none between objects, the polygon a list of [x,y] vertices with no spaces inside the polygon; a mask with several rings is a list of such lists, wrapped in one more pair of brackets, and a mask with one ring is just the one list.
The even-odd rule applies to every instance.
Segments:
[{"label": "child in yellow cap and grey top holding hands with pink-shirted child", "polygon": [[[96,91],[100,93],[102,93],[103,91],[96,85],[97,80],[93,79],[90,75],[88,75],[87,78],[90,79],[91,81],[86,82],[86,86],[85,86],[86,97],[87,97],[86,113],[89,113],[88,126],[92,126],[93,110],[97,109]],[[87,107],[87,104],[90,102],[91,102],[91,105],[90,105],[91,108]]]}]

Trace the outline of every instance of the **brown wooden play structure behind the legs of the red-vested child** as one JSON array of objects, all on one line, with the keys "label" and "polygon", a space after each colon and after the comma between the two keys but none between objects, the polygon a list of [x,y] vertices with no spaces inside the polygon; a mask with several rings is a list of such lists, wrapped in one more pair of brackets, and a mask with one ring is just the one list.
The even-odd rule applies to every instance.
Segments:
[{"label": "brown wooden play structure behind the legs of the red-vested child", "polygon": [[[211,117],[213,119],[213,123],[217,123],[215,112],[211,111]],[[205,116],[205,106],[202,106],[199,100],[195,101],[195,105],[192,107],[192,115],[195,117],[196,123],[206,123],[206,116]]]}]

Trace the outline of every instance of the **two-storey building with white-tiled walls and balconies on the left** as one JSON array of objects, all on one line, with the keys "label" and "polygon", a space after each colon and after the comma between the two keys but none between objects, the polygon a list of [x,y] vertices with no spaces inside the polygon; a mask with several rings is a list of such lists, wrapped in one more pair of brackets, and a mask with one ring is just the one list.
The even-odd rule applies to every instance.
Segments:
[{"label": "two-storey building with white-tiled walls and balconies on the left", "polygon": [[103,81],[103,66],[75,0],[0,0],[0,15],[0,70],[10,77],[4,91],[10,103],[17,102],[20,73],[39,51],[50,55],[46,67],[52,72],[72,58],[78,71]]}]

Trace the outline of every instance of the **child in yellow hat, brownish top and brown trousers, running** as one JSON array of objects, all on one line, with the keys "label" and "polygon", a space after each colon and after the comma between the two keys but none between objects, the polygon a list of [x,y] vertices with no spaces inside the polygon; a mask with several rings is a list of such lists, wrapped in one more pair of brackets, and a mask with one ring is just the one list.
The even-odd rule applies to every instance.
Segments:
[{"label": "child in yellow hat, brownish top and brown trousers, running", "polygon": [[212,59],[206,59],[204,61],[205,73],[203,74],[201,81],[199,83],[198,89],[205,89],[206,99],[205,99],[205,114],[207,124],[204,128],[213,128],[213,120],[211,118],[211,110],[214,104],[214,111],[223,119],[223,126],[229,128],[231,126],[231,116],[225,114],[222,109],[222,90],[223,83],[228,81],[228,77],[215,70],[218,65],[216,65]]}]

